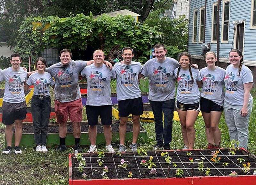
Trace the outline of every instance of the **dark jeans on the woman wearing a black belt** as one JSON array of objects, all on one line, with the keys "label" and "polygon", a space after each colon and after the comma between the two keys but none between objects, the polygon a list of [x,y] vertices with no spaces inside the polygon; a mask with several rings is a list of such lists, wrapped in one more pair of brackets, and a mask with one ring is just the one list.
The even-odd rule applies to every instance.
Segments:
[{"label": "dark jeans on the woman wearing a black belt", "polygon": [[48,122],[51,114],[51,98],[38,98],[37,96],[33,96],[31,99],[31,114],[36,146],[46,145]]}]

